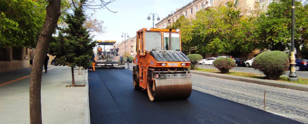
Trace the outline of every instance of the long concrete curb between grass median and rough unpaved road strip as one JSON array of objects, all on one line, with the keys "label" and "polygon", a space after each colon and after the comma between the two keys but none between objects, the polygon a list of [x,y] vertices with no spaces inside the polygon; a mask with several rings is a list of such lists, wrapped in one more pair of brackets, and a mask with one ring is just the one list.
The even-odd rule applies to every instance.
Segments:
[{"label": "long concrete curb between grass median and rough unpaved road strip", "polygon": [[224,75],[224,74],[219,74],[219,73],[209,73],[209,72],[202,72],[202,71],[195,71],[195,70],[190,70],[190,73],[223,78],[223,79],[229,79],[229,80],[263,84],[263,85],[274,86],[274,87],[289,88],[289,89],[308,92],[308,85],[304,85],[304,84],[287,83],[287,82],[281,82],[281,81],[275,81],[275,80],[264,80],[264,79],[256,79],[256,78],[233,76],[233,75]]}]

